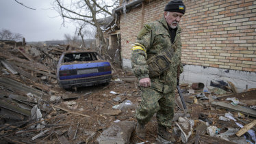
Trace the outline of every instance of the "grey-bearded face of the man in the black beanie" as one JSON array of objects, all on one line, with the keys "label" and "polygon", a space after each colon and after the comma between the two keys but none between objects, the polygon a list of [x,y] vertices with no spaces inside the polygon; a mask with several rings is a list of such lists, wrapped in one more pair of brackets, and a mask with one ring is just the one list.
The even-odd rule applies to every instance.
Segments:
[{"label": "grey-bearded face of the man in the black beanie", "polygon": [[183,14],[180,12],[164,12],[164,18],[166,18],[167,24],[172,29],[175,29],[178,26],[182,16]]}]

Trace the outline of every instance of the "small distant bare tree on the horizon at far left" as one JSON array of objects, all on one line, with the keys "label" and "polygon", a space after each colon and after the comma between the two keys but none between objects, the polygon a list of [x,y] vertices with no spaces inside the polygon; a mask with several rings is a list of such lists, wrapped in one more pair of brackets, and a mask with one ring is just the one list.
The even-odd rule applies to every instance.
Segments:
[{"label": "small distant bare tree on the horizon at far left", "polygon": [[0,31],[0,40],[22,40],[23,36],[20,33],[12,33],[12,31],[8,29],[2,29]]}]

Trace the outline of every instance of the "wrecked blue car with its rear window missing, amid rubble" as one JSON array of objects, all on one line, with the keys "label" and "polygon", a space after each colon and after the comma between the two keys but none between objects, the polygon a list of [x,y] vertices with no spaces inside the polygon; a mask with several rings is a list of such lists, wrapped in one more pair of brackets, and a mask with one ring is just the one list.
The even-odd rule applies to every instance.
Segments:
[{"label": "wrecked blue car with its rear window missing, amid rubble", "polygon": [[57,81],[64,89],[109,83],[111,66],[94,51],[64,52],[57,64]]}]

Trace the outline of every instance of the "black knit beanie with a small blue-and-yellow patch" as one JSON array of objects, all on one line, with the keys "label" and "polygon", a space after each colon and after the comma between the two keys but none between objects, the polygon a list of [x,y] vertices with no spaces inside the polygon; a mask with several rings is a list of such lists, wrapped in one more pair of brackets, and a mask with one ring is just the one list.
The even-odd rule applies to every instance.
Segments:
[{"label": "black knit beanie with a small blue-and-yellow patch", "polygon": [[181,0],[172,0],[169,3],[167,3],[166,8],[164,8],[164,11],[180,12],[182,14],[185,14],[185,5]]}]

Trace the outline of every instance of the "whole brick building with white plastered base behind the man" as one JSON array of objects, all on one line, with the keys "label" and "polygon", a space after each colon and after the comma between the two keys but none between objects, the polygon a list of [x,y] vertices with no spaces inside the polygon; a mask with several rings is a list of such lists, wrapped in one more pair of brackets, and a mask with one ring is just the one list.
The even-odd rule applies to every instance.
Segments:
[{"label": "whole brick building with white plastered base behind the man", "polygon": [[[168,1],[120,2],[115,11],[120,30],[114,34],[120,36],[123,68],[131,68],[131,47],[142,25],[160,18]],[[222,79],[231,81],[238,89],[256,87],[256,1],[183,0],[183,3],[186,6],[180,23],[183,82],[209,83]]]}]

